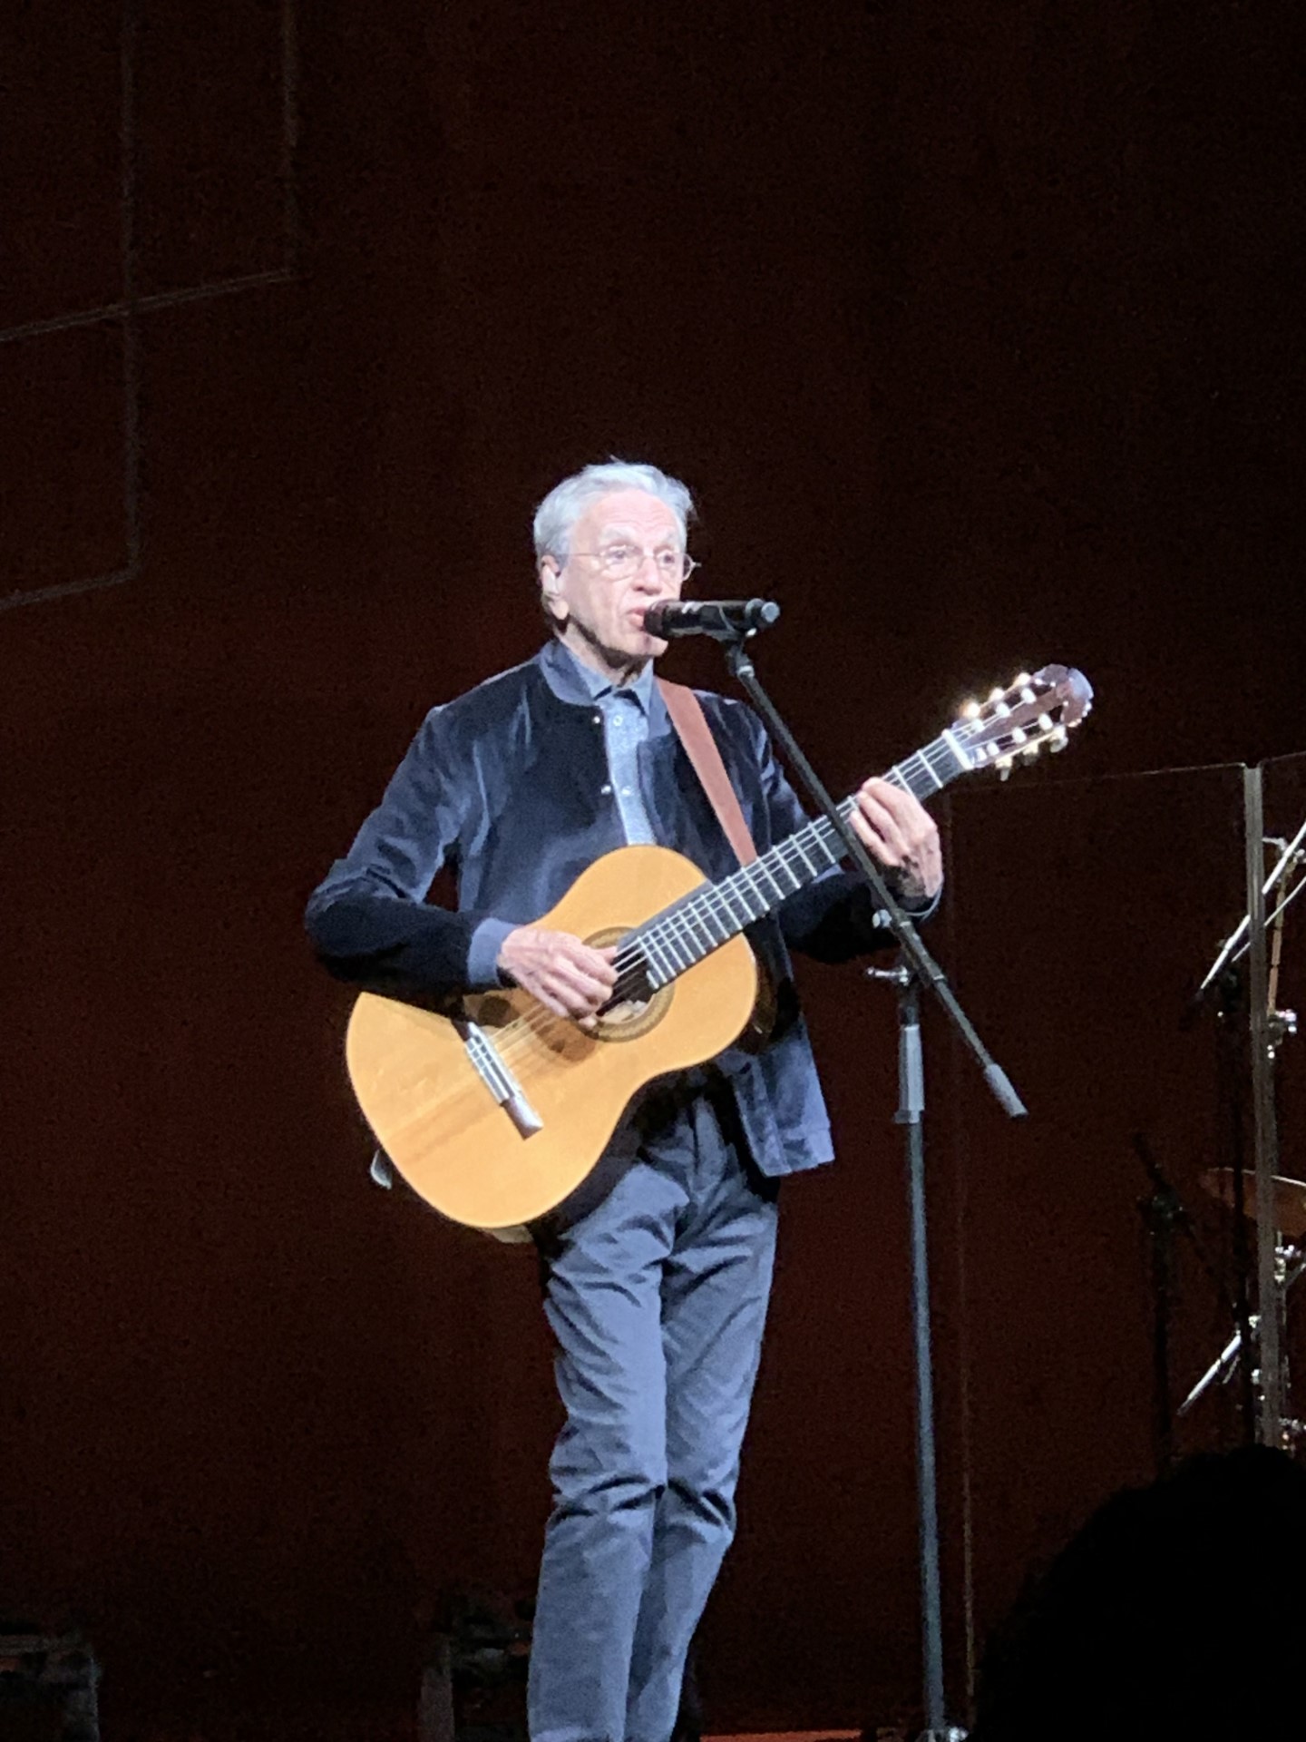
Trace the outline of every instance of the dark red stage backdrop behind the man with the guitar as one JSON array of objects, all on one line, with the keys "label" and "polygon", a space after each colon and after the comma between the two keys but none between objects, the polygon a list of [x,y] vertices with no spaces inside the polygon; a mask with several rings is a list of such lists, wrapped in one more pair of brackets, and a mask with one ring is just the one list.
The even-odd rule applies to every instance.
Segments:
[{"label": "dark red stage backdrop behind the man with the guitar", "polygon": [[[118,1723],[322,1735],[411,1707],[442,1583],[529,1582],[531,1265],[367,1185],[300,909],[421,712],[536,645],[535,500],[620,453],[697,488],[703,591],[784,601],[764,672],[834,786],[1024,662],[1099,690],[951,812],[935,939],[1034,1113],[932,1030],[959,1709],[965,1592],[982,1637],[1149,1470],[1130,1136],[1186,1192],[1215,1141],[1175,1016],[1238,777],[1113,777],[1306,744],[1297,9],[306,12],[294,273],[141,312],[141,571],[0,624],[0,1610],[82,1615]],[[118,10],[5,30],[17,326],[124,294]],[[282,265],[279,38],[141,7],[139,294]],[[127,559],[122,343],[0,347],[0,594]],[[787,1193],[717,1726],[918,1686],[892,1019],[806,988],[843,1160]]]}]

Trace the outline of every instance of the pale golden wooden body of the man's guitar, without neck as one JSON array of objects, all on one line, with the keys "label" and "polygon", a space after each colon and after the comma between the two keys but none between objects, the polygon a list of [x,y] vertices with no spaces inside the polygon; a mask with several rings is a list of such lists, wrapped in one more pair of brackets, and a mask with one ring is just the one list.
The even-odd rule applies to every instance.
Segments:
[{"label": "pale golden wooden body of the man's guitar, without neck", "polygon": [[[596,861],[536,923],[596,948],[615,944],[703,885],[665,847],[622,847]],[[757,963],[738,935],[594,1031],[519,991],[477,993],[463,1014],[491,1043],[529,1118],[498,1101],[465,1024],[374,993],[350,1017],[353,1092],[404,1179],[453,1221],[512,1237],[592,1171],[630,1099],[670,1071],[702,1064],[742,1033]]]}]

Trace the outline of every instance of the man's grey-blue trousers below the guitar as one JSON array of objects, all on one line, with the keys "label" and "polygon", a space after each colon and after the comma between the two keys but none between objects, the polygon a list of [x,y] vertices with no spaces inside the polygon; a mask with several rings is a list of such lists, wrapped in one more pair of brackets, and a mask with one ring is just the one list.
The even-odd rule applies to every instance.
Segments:
[{"label": "man's grey-blue trousers below the guitar", "polygon": [[545,1246],[566,1425],[531,1644],[533,1742],[667,1742],[735,1535],[777,1186],[723,1090]]}]

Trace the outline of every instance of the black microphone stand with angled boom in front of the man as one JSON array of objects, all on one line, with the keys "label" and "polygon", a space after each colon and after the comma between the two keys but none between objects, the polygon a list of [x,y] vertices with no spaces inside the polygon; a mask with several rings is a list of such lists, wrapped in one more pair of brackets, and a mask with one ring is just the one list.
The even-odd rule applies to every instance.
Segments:
[{"label": "black microphone stand with angled boom in front of the man", "polygon": [[916,1484],[919,1507],[921,1552],[921,1643],[925,1658],[925,1730],[918,1742],[959,1742],[965,1730],[944,1718],[944,1629],[939,1578],[939,1475],[933,1434],[933,1357],[930,1348],[930,1272],[925,1216],[925,1056],[921,1049],[921,989],[928,989],[940,1003],[956,1033],[970,1047],[984,1082],[1005,1113],[1020,1118],[1026,1113],[1006,1071],[993,1059],[972,1026],[966,1012],[947,984],[944,970],[919,939],[916,927],[893,899],[871,854],[845,820],[839,807],[822,786],[811,763],[798,746],[778,709],[757,679],[747,652],[747,641],[756,631],[721,627],[710,631],[726,650],[726,664],[740,688],[747,693],[766,721],[791,766],[806,787],[822,815],[843,841],[848,857],[872,890],[879,909],[886,915],[890,930],[899,941],[895,969],[871,969],[869,977],[888,981],[899,991],[899,1110],[895,1124],[902,1125],[907,1158],[907,1202],[911,1211],[911,1312],[912,1350],[916,1367]]}]

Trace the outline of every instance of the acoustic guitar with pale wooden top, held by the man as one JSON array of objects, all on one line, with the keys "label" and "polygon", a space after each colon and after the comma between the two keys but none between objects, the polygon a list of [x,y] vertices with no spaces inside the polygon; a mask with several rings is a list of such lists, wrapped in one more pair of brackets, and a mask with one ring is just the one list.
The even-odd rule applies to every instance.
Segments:
[{"label": "acoustic guitar with pale wooden top, held by the man", "polygon": [[[1006,775],[1045,744],[1062,749],[1090,704],[1081,672],[1045,665],[970,704],[885,779],[928,800],[963,773]],[[592,1028],[519,989],[468,993],[448,1012],[362,993],[347,1061],[378,1143],[441,1214],[521,1239],[582,1185],[646,1085],[738,1040],[759,988],[744,928],[843,857],[820,819],[717,883],[665,847],[596,861],[535,922],[616,946],[616,989]]]}]

